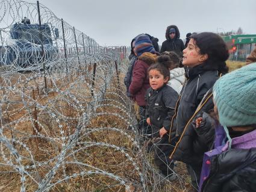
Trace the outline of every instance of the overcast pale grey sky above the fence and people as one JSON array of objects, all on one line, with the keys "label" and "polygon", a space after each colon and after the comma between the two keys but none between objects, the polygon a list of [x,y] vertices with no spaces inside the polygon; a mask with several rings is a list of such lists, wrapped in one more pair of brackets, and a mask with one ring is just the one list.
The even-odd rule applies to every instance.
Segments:
[{"label": "overcast pale grey sky above the fence and people", "polygon": [[[31,1],[30,2],[36,2]],[[231,31],[239,26],[256,34],[256,0],[40,0],[56,16],[89,35],[99,45],[130,45],[137,34],[165,40],[168,25],[181,38],[189,32]]]}]

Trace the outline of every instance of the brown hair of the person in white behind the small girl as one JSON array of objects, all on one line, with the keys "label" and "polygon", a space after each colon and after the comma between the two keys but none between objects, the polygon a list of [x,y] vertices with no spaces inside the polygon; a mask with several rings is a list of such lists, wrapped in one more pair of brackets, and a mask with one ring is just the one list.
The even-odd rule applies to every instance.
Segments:
[{"label": "brown hair of the person in white behind the small girl", "polygon": [[157,61],[158,63],[167,66],[170,70],[179,67],[182,63],[179,56],[172,51],[164,51],[163,53],[161,53],[159,57],[157,57]]}]

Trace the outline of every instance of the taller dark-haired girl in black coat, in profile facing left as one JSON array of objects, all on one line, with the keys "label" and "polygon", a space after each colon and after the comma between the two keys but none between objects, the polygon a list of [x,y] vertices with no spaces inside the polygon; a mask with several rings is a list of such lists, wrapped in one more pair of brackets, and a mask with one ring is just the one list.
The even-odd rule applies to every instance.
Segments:
[{"label": "taller dark-haired girl in black coat, in profile facing left", "polygon": [[[207,146],[193,144],[197,140],[191,118],[202,99],[220,76],[227,73],[225,61],[228,49],[222,38],[214,33],[193,34],[186,49],[183,50],[183,65],[186,67],[187,81],[181,90],[181,97],[175,109],[175,117],[170,128],[170,141],[179,138],[178,144],[170,155],[171,159],[187,164],[192,184],[198,189],[202,168],[202,158]],[[204,111],[213,109],[210,99]]]}]

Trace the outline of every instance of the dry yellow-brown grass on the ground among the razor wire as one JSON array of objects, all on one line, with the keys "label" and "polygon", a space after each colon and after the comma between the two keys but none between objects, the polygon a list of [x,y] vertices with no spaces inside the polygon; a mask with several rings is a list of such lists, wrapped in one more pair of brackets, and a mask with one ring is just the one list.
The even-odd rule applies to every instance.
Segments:
[{"label": "dry yellow-brown grass on the ground among the razor wire", "polygon": [[[233,61],[227,61],[227,64],[229,71],[245,65],[245,63]],[[122,79],[123,74],[121,73],[120,75],[120,79]],[[15,78],[14,76],[12,81],[17,81]],[[25,79],[26,76],[23,76],[23,78]],[[61,87],[62,91],[69,87],[72,95],[80,98],[79,102],[86,108],[86,103],[90,102],[90,91],[88,91],[89,88],[86,83],[76,84],[79,86],[72,87],[72,83],[78,81],[78,79],[78,77],[73,76],[69,83],[63,83],[63,81],[56,81],[55,83],[58,84],[58,87]],[[67,79],[64,80],[66,81]],[[37,82],[41,81],[43,82],[42,79],[39,79]],[[138,169],[144,170],[142,173],[144,174],[143,178],[146,179],[146,188],[149,191],[154,191],[155,184],[152,176],[154,174],[149,169],[150,167],[154,167],[153,155],[152,153],[145,153],[143,150],[138,150],[138,146],[134,144],[137,136],[133,131],[128,129],[128,123],[129,121],[131,122],[128,113],[136,114],[136,111],[133,110],[132,103],[125,98],[124,85],[122,84],[122,80],[120,82],[122,90],[117,91],[117,79],[112,79],[111,86],[107,88],[105,93],[104,102],[95,111],[101,115],[92,117],[90,122],[87,123],[86,128],[81,131],[78,144],[70,149],[72,155],[66,156],[66,166],[62,170],[59,169],[57,171],[52,182],[61,181],[63,175],[70,176],[70,178],[55,184],[50,191],[125,191],[125,187],[120,185],[113,177],[111,178],[111,176],[125,178],[126,181],[139,186],[141,178],[139,172],[134,171],[134,163],[136,163]],[[97,83],[96,87],[100,86],[99,84],[101,82]],[[3,82],[1,82],[2,84]],[[51,85],[51,82],[49,84]],[[17,83],[15,85],[18,87],[23,86]],[[31,87],[37,86],[33,81],[29,85]],[[27,100],[25,98],[25,102],[24,98],[18,96],[17,90],[16,93],[8,93],[10,102],[1,105],[3,111],[2,117],[4,119],[2,123],[4,123],[5,127],[3,134],[10,140],[11,138],[18,138],[17,140],[22,142],[22,144],[14,144],[14,147],[23,156],[20,163],[24,167],[28,166],[27,171],[31,174],[31,177],[26,177],[26,191],[36,191],[38,187],[37,182],[42,181],[57,161],[55,159],[56,153],[61,152],[60,138],[63,137],[61,136],[63,133],[59,129],[60,125],[54,122],[54,119],[48,113],[45,113],[43,108],[37,105],[54,108],[54,110],[60,112],[61,116],[70,119],[69,122],[60,123],[63,128],[64,137],[69,137],[75,132],[76,125],[78,125],[77,117],[81,115],[81,111],[78,110],[74,103],[67,101],[68,96],[61,95],[60,91],[52,91],[46,96],[41,91],[35,89],[34,92],[32,90],[23,91],[23,94],[30,95]],[[1,91],[1,95],[7,96],[7,93]],[[36,101],[37,105],[32,105],[33,101],[31,101],[31,98]],[[31,105],[24,105],[26,102],[31,102]],[[28,113],[28,111],[32,111],[33,114]],[[133,118],[135,119],[135,117]],[[37,120],[31,121],[31,119]],[[107,129],[101,130],[101,128]],[[121,132],[116,132],[113,128]],[[93,129],[98,129],[98,131],[87,132]],[[49,140],[49,138],[55,141]],[[88,143],[92,143],[92,145],[87,146]],[[1,153],[7,155],[8,149],[1,146]],[[31,161],[31,156],[33,156],[33,161]],[[127,156],[133,161],[130,161]],[[14,161],[13,158],[7,155],[0,156],[0,163],[8,162],[7,159]],[[49,159],[51,161],[48,161]],[[83,165],[71,163],[73,161],[83,163]],[[146,166],[145,162],[147,164]],[[45,163],[45,166],[38,165],[40,163]],[[84,164],[104,170],[105,173],[111,173],[112,175],[97,174],[95,168],[89,169]],[[32,167],[34,165],[36,165],[36,170]],[[88,171],[89,173],[94,170],[95,173],[80,174],[81,170],[84,172]],[[183,163],[177,163],[175,171],[178,179],[169,184],[158,186],[157,191],[178,192],[192,190],[186,166]],[[74,174],[76,176],[72,176]],[[13,170],[13,167],[6,165],[0,166],[0,180],[0,191],[20,191],[20,186],[22,185],[20,174]],[[137,187],[137,190],[134,191],[142,191],[142,189]]]}]

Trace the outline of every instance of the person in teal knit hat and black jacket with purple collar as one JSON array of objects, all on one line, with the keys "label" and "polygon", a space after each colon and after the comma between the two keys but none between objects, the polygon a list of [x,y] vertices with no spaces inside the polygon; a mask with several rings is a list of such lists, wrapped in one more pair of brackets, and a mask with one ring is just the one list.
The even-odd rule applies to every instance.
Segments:
[{"label": "person in teal knit hat and black jacket with purple collar", "polygon": [[256,191],[256,63],[224,75],[213,87],[214,114],[202,113],[192,125],[204,154],[199,191]]}]

